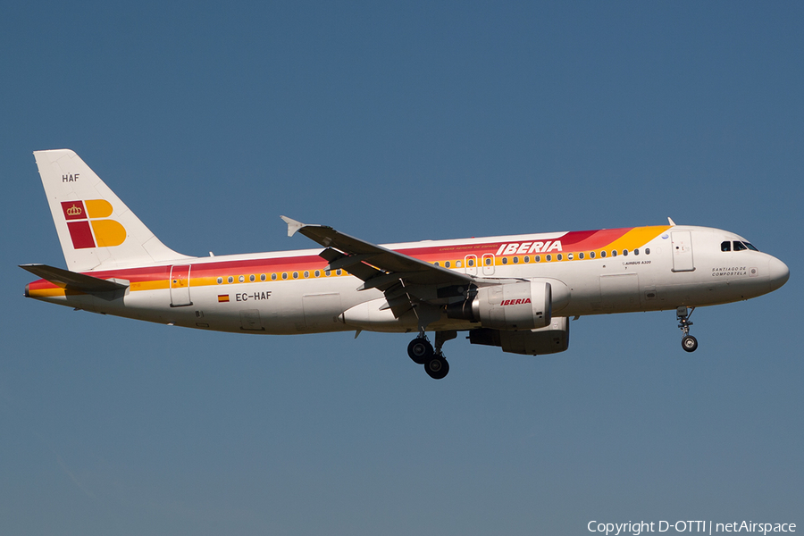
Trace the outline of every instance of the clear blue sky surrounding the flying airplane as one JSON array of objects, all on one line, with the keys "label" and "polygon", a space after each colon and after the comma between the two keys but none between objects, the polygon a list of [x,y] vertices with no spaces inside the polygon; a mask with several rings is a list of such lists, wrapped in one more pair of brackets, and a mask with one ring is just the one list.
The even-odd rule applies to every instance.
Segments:
[{"label": "clear blue sky surrounding the flying airplane", "polygon": [[[0,532],[586,533],[804,523],[804,8],[17,3],[0,16]],[[543,357],[246,337],[22,297],[63,266],[31,152],[79,153],[188,255],[675,222],[783,289],[583,317]]]}]

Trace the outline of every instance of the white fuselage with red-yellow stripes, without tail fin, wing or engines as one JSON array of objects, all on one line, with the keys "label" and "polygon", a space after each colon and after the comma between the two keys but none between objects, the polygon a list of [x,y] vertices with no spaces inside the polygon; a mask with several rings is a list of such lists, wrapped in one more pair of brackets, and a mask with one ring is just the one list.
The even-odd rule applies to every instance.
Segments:
[{"label": "white fuselage with red-yellow stripes, without tail fin, wing or engines", "polygon": [[[658,232],[628,255],[623,249],[605,247],[549,249],[547,244],[557,237],[560,240],[560,233],[385,247],[426,251],[419,258],[476,276],[481,282],[548,280],[553,288],[552,314],[562,317],[724,304],[766,294],[787,281],[787,267],[771,255],[750,249],[723,251],[724,242],[744,241],[731,232],[688,226],[668,226]],[[473,248],[477,254],[467,253]],[[485,253],[479,255],[481,249]],[[318,256],[320,252],[316,248],[196,257],[174,265],[86,272],[129,285],[123,295],[113,298],[46,288],[40,281],[31,283],[26,292],[29,297],[96,313],[214,331],[416,331],[415,315],[395,318],[380,290],[358,290],[363,281],[346,271],[327,275],[327,262]],[[475,327],[479,327],[475,322],[442,314],[427,329]]]}]

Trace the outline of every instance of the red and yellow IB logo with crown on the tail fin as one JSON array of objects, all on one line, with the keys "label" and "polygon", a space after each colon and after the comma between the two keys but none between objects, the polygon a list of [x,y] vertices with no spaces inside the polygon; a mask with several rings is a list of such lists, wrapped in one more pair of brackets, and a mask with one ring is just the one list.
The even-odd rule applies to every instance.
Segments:
[{"label": "red and yellow IB logo with crown on the tail fin", "polygon": [[120,246],[126,239],[126,229],[120,222],[106,219],[113,208],[105,199],[63,201],[62,210],[76,249]]}]

